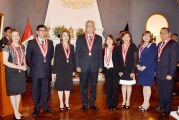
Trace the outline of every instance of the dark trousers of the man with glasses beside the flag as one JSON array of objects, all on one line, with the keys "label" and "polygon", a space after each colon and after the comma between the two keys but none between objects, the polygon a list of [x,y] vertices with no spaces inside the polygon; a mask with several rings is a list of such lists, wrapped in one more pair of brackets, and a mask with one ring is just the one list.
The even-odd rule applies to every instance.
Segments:
[{"label": "dark trousers of the man with glasses beside the flag", "polygon": [[49,109],[50,82],[50,78],[32,78],[35,111],[40,111],[41,102],[44,110]]}]

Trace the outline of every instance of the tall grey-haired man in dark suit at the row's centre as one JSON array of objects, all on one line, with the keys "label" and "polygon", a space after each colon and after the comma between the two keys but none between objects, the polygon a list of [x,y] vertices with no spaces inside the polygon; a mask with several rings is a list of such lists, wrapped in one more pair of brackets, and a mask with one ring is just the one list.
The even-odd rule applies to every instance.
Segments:
[{"label": "tall grey-haired man in dark suit at the row's centre", "polygon": [[82,97],[81,112],[88,107],[88,86],[90,85],[89,106],[98,111],[95,106],[98,72],[102,72],[102,37],[94,33],[95,24],[92,20],[86,22],[86,32],[76,41],[76,70],[80,72],[80,90]]}]

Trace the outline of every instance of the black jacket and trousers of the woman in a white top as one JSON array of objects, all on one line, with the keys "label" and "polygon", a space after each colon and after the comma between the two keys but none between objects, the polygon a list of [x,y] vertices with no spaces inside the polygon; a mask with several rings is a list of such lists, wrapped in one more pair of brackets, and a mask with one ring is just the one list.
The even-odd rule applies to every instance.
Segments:
[{"label": "black jacket and trousers of the woman in a white top", "polygon": [[[103,53],[105,53],[104,50]],[[120,57],[119,48],[115,46],[112,51],[113,68],[107,69],[106,67],[104,67],[104,71],[103,71],[103,73],[105,74],[105,81],[106,81],[106,94],[107,94],[106,104],[110,106],[117,106],[119,102],[119,79],[120,79],[119,57]]]}]

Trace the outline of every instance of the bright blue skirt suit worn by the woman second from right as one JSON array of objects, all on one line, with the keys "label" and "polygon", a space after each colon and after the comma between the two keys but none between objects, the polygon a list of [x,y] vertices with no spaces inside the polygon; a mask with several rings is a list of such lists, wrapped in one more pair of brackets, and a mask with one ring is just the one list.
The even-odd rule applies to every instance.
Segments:
[{"label": "bright blue skirt suit worn by the woman second from right", "polygon": [[138,59],[138,64],[140,66],[145,66],[144,71],[138,71],[138,84],[143,86],[152,86],[156,62],[157,62],[157,46],[155,43],[150,43],[146,46],[142,53],[140,59]]}]

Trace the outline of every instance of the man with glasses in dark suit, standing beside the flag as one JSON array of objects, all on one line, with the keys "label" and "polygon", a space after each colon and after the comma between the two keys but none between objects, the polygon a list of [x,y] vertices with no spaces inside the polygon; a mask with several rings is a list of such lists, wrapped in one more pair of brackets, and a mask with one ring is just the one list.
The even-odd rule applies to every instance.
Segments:
[{"label": "man with glasses in dark suit, standing beside the flag", "polygon": [[54,46],[51,40],[45,38],[46,31],[46,26],[37,26],[37,37],[29,41],[27,45],[26,57],[31,68],[32,95],[35,105],[33,116],[39,114],[41,102],[45,112],[54,113],[49,108],[51,60]]}]

